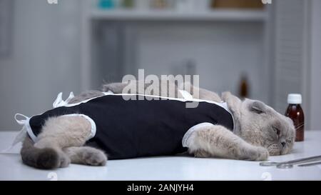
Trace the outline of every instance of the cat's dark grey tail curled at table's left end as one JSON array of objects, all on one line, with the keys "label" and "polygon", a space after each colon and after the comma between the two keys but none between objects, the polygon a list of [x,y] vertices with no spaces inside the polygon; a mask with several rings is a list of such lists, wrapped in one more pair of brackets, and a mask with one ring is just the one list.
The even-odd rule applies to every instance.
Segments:
[{"label": "cat's dark grey tail curled at table's left end", "polygon": [[59,166],[58,152],[50,148],[36,148],[29,136],[24,139],[20,154],[24,164],[38,169],[55,169]]}]

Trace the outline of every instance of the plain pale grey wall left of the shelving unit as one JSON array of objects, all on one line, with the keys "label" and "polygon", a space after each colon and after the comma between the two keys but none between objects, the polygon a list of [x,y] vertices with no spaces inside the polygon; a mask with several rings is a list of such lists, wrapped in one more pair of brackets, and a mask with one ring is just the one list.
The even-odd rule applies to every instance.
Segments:
[{"label": "plain pale grey wall left of the shelving unit", "polygon": [[0,58],[0,131],[20,129],[15,113],[38,114],[59,91],[80,91],[79,7],[14,1],[11,54]]}]

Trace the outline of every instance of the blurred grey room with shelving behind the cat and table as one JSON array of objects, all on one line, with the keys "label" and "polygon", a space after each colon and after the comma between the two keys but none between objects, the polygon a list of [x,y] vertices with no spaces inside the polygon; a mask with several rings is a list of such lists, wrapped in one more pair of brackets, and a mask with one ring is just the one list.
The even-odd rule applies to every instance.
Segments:
[{"label": "blurred grey room with shelving behind the cat and table", "polygon": [[200,87],[281,114],[300,93],[306,129],[321,129],[321,1],[263,2],[0,0],[0,131],[20,129],[16,113],[51,109],[60,91],[138,69],[198,74]]}]

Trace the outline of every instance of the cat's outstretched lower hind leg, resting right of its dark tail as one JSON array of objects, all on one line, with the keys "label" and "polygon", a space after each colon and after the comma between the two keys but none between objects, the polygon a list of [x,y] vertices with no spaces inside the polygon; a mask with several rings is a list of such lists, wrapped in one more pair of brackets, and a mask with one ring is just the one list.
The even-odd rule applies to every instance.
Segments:
[{"label": "cat's outstretched lower hind leg, resting right of its dark tail", "polygon": [[89,146],[67,147],[63,151],[71,159],[72,164],[87,164],[92,166],[105,166],[107,156],[103,151]]}]

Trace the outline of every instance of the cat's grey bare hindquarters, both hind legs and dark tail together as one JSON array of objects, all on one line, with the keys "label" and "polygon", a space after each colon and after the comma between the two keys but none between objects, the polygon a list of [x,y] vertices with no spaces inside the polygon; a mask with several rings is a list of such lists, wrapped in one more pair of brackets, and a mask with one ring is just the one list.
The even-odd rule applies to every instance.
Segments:
[{"label": "cat's grey bare hindquarters, both hind legs and dark tail together", "polygon": [[82,116],[51,117],[36,143],[29,136],[24,140],[22,161],[39,169],[63,168],[70,163],[103,166],[107,161],[103,151],[83,146],[90,134],[91,124]]}]

